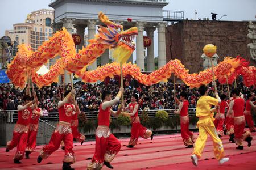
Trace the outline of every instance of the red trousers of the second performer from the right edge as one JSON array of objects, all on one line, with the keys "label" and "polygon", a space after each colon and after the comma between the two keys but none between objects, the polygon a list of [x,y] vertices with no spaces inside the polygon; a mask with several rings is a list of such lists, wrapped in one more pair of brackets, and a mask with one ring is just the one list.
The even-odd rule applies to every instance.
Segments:
[{"label": "red trousers of the second performer from the right edge", "polygon": [[234,117],[234,135],[237,145],[243,146],[242,142],[250,136],[249,131],[245,130],[245,117]]}]

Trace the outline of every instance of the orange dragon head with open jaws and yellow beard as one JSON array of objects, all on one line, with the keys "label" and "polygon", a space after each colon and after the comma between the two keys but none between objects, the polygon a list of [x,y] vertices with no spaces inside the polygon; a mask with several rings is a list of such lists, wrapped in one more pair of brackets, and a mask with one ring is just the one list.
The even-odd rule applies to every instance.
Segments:
[{"label": "orange dragon head with open jaws and yellow beard", "polygon": [[123,31],[122,25],[110,21],[102,12],[98,14],[98,18],[107,27],[98,26],[97,41],[113,49],[113,57],[117,62],[126,62],[135,50],[134,38],[138,35],[137,27]]}]

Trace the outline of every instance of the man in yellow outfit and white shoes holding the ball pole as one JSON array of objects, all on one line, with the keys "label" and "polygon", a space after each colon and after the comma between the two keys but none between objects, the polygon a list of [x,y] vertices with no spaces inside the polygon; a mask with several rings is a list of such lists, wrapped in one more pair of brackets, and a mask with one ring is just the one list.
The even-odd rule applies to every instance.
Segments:
[{"label": "man in yellow outfit and white shoes holding the ball pole", "polygon": [[229,160],[224,157],[224,148],[221,139],[218,137],[217,130],[213,123],[213,117],[211,116],[212,105],[217,106],[221,103],[220,97],[216,92],[216,98],[208,96],[208,88],[204,85],[199,87],[200,99],[196,104],[196,116],[199,117],[197,126],[199,128],[199,137],[196,139],[194,151],[191,155],[192,163],[197,166],[197,161],[201,158],[202,151],[207,141],[208,134],[212,137],[214,155],[220,164],[223,164]]}]

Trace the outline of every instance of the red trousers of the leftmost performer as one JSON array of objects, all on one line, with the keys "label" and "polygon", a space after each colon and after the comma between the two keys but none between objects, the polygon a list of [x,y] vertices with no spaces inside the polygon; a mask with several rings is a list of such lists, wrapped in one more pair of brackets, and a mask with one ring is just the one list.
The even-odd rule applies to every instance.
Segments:
[{"label": "red trousers of the leftmost performer", "polygon": [[20,125],[16,124],[13,131],[13,139],[7,142],[7,149],[12,150],[15,146],[17,146],[16,154],[14,155],[14,159],[22,160],[24,157],[24,152],[27,145],[27,137],[28,137],[28,125]]}]

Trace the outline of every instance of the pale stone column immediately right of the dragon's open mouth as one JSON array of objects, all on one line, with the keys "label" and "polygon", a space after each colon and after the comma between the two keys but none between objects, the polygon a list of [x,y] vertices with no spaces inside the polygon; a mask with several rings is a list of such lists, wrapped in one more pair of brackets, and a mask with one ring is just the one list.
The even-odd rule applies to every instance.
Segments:
[{"label": "pale stone column immediately right of the dragon's open mouth", "polygon": [[143,46],[143,31],[145,22],[136,22],[138,28],[138,35],[136,37],[136,64],[145,71],[144,65],[144,46]]}]

